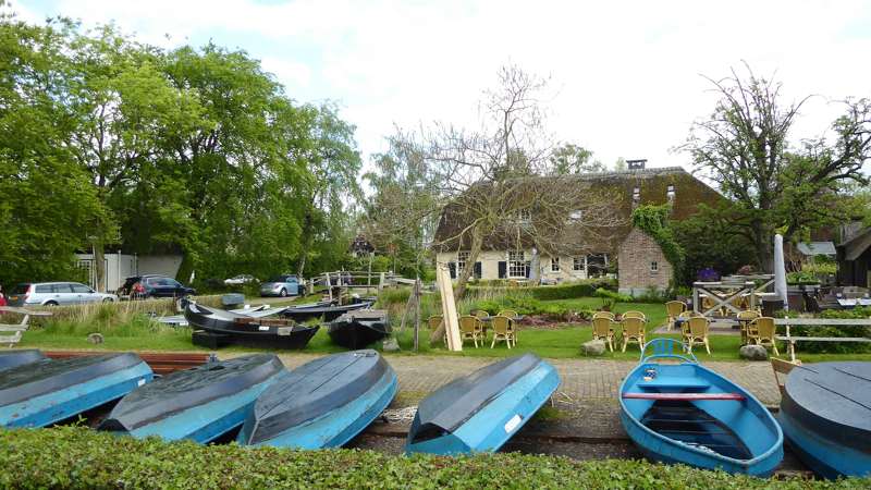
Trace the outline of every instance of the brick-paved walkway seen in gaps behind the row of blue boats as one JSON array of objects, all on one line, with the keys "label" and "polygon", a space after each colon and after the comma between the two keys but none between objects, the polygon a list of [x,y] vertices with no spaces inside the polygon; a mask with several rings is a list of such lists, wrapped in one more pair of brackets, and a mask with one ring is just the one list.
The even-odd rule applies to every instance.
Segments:
[{"label": "brick-paved walkway seen in gaps behind the row of blue boats", "polygon": [[[223,357],[223,356],[221,356]],[[319,357],[316,354],[280,354],[293,368]],[[420,399],[454,378],[499,359],[461,356],[385,356],[400,378],[401,400]],[[561,401],[589,399],[616,401],[623,378],[636,366],[630,360],[549,359],[560,372]],[[706,367],[750,390],[763,404],[778,405],[781,394],[769,363],[704,363]]]}]

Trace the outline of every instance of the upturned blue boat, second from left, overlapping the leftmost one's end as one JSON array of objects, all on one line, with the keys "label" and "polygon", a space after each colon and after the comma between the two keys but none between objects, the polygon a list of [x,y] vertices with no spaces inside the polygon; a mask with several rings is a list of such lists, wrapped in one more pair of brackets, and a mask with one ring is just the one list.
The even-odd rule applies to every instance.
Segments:
[{"label": "upturned blue boat, second from left, overlapping the leftmost one's end", "polygon": [[176,371],[124,396],[99,429],[210,442],[240,427],[283,370],[275,355],[254,354]]}]

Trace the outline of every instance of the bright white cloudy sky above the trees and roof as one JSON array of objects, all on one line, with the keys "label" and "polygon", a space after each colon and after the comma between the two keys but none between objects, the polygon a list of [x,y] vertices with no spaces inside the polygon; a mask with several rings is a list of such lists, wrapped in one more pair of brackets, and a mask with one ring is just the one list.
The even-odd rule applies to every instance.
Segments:
[{"label": "bright white cloudy sky above the trees and roof", "polygon": [[813,95],[795,137],[826,135],[846,97],[871,97],[871,1],[16,0],[20,17],[114,22],[172,48],[209,40],[260,59],[299,102],[333,101],[364,159],[395,127],[474,125],[496,71],[550,81],[547,127],[612,164],[684,166],[711,82],[729,70]]}]

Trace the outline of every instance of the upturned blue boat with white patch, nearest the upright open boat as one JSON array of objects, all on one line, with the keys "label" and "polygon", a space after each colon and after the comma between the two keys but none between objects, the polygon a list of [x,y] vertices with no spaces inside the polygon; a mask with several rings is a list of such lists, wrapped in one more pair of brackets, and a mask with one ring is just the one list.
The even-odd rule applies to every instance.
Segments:
[{"label": "upturned blue boat with white patch, nearest the upright open boat", "polygon": [[457,378],[420,402],[405,451],[496,451],[559,385],[556,369],[535,354],[511,357]]}]

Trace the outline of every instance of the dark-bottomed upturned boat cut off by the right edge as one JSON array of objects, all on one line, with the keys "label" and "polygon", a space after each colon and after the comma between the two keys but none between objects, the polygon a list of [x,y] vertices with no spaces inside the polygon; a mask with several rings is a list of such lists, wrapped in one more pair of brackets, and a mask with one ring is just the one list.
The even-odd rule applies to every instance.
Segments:
[{"label": "dark-bottomed upturned boat cut off by the right edge", "polygon": [[777,421],[815,474],[871,476],[871,363],[795,367],[784,383]]}]

